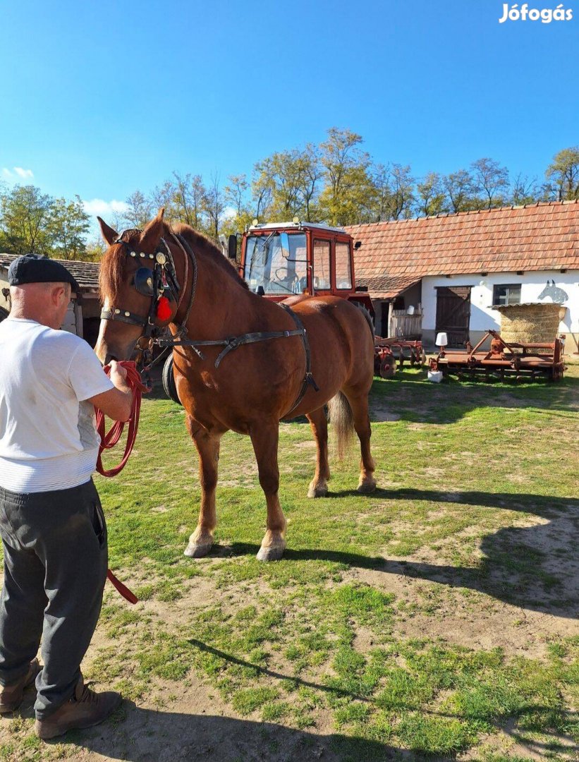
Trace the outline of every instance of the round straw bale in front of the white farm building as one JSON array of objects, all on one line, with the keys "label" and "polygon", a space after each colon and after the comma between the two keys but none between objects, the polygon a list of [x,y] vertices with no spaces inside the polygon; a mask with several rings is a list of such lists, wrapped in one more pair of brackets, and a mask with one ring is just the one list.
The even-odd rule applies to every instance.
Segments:
[{"label": "round straw bale in front of the white farm building", "polygon": [[555,341],[565,307],[552,303],[494,306],[501,313],[501,338],[520,344]]}]

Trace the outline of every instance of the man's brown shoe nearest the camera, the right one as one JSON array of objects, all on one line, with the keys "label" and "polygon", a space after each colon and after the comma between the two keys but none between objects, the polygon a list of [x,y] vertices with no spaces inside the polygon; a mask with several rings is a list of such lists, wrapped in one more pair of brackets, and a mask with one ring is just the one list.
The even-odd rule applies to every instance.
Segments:
[{"label": "man's brown shoe nearest the camera, the right one", "polygon": [[120,693],[113,690],[94,693],[94,690],[85,686],[81,677],[72,698],[46,719],[37,719],[34,732],[38,738],[46,739],[63,735],[72,728],[91,728],[107,719],[122,700]]}]

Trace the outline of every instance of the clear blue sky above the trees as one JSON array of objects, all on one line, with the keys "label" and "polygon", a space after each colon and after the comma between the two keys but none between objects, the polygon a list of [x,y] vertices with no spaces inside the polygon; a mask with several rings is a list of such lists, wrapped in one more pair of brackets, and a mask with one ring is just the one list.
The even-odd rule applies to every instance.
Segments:
[{"label": "clear blue sky above the trees", "polygon": [[110,203],[173,170],[249,174],[330,126],[417,176],[491,156],[542,177],[579,143],[564,6],[499,24],[501,0],[5,0],[0,177]]}]

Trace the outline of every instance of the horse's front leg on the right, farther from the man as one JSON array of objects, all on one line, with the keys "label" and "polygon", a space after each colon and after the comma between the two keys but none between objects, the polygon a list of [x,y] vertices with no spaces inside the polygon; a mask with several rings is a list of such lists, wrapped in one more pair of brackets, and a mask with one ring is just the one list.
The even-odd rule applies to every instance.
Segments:
[{"label": "horse's front leg on the right, farther from the man", "polygon": [[267,502],[267,524],[264,539],[258,552],[260,561],[278,561],[286,547],[286,517],[281,510],[278,490],[280,471],[277,468],[277,443],[279,424],[274,421],[251,429],[251,443],[258,461],[259,483]]}]

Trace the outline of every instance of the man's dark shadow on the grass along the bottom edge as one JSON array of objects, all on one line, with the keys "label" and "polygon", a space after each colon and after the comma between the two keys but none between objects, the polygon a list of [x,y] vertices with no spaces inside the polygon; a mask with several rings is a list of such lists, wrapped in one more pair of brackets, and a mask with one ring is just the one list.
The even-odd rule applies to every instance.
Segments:
[{"label": "man's dark shadow on the grass along the bottom edge", "polygon": [[[197,642],[195,642],[197,645]],[[215,649],[203,645],[206,650]],[[238,663],[224,652],[217,655]],[[247,666],[253,666],[249,662]],[[274,677],[277,677],[274,674]],[[322,688],[322,686],[316,686]],[[400,709],[404,709],[403,706]],[[430,747],[432,738],[414,736],[411,749],[400,745],[382,743],[378,740],[358,738],[355,735],[331,733],[323,735],[273,722],[253,722],[216,715],[198,714],[198,702],[194,701],[190,712],[169,712],[161,709],[146,709],[136,706],[132,701],[124,701],[119,710],[98,728],[85,731],[69,732],[66,736],[48,741],[47,745],[59,744],[69,754],[75,748],[83,748],[94,754],[100,754],[109,760],[127,760],[127,762],[174,762],[174,760],[222,760],[222,762],[241,762],[241,760],[264,760],[264,762],[301,762],[301,760],[323,759],[326,762],[386,762],[386,760],[414,759],[432,760]],[[422,710],[421,710],[422,712]],[[417,713],[420,716],[421,712]],[[517,723],[521,716],[538,716],[552,712],[546,706],[525,706],[520,712],[501,715],[492,719],[497,730],[523,745],[523,748],[542,754],[552,748],[552,741],[539,741],[520,735]],[[29,714],[30,712],[25,712]],[[465,719],[453,714],[424,709],[424,714],[433,718],[460,720]],[[411,716],[414,715],[414,712]],[[478,719],[470,717],[469,719]],[[488,716],[480,718],[488,723]],[[569,717],[570,720],[573,716]],[[560,741],[556,732],[541,728],[542,734]],[[387,733],[389,735],[389,733]],[[410,739],[408,739],[410,741]],[[568,739],[571,741],[571,739]],[[473,741],[463,740],[460,749],[446,751],[442,757],[434,758],[456,760],[459,751],[472,746]],[[455,747],[456,748],[456,747]],[[409,757],[411,754],[411,757]]]}]

